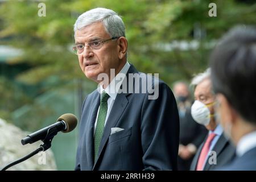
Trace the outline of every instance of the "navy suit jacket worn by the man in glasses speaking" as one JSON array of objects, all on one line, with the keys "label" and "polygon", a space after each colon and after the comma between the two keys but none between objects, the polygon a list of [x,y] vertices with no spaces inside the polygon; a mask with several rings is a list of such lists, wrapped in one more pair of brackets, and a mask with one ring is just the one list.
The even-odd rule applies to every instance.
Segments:
[{"label": "navy suit jacket worn by the man in glasses speaking", "polygon": [[[128,73],[138,71],[131,65]],[[149,93],[117,94],[104,127],[95,164],[93,126],[100,105],[100,93],[94,90],[86,97],[82,106],[75,169],[177,169],[179,115],[176,101],[171,89],[163,81],[159,80],[155,88],[157,86],[159,97],[156,100],[148,100]],[[125,130],[110,135],[112,127]]]}]

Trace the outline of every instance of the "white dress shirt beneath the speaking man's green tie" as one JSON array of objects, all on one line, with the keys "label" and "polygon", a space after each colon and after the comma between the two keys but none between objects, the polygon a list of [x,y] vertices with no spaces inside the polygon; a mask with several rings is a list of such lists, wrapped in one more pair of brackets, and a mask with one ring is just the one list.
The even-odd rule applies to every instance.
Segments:
[{"label": "white dress shirt beneath the speaking man's green tie", "polygon": [[[128,62],[126,62],[126,64],[123,66],[123,68],[121,69],[121,71],[115,76],[118,77],[118,75],[120,73],[125,74],[127,73],[128,69],[130,68],[130,64]],[[124,80],[124,79],[123,79]],[[113,78],[113,80],[110,82],[110,84],[106,87],[106,89],[102,88],[102,86],[100,85],[100,93],[103,92],[103,90],[105,90],[106,93],[109,94],[109,98],[108,98],[108,111],[107,111],[107,115],[106,115],[106,119],[105,119],[105,125],[106,125],[106,121],[108,120],[109,117],[109,113],[112,109],[112,106],[114,104],[115,101],[115,97],[117,97],[117,93],[118,90],[115,90],[116,85],[119,86],[118,89],[120,89],[121,84],[119,84],[119,80],[115,80],[115,78]],[[100,111],[100,106],[98,107],[98,112]],[[97,125],[97,119],[98,119],[98,112],[97,112],[97,117],[96,117],[96,121],[94,123],[94,133],[96,130],[96,125]],[[104,125],[104,126],[105,126]]]}]

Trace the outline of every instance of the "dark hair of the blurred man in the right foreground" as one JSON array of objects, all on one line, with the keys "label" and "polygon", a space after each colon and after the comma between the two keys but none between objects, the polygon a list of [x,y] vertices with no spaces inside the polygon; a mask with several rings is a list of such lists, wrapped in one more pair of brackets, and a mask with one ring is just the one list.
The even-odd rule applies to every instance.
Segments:
[{"label": "dark hair of the blurred man in the right foreground", "polygon": [[246,121],[256,124],[256,29],[232,28],[210,56],[212,84]]}]

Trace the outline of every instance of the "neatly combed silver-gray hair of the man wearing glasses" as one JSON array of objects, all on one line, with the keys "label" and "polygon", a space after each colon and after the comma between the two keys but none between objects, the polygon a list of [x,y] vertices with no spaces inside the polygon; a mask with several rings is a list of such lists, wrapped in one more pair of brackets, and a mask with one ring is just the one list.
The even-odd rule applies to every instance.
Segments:
[{"label": "neatly combed silver-gray hair of the man wearing glasses", "polygon": [[74,32],[96,22],[102,22],[106,32],[108,32],[112,38],[125,36],[125,24],[121,17],[113,10],[101,7],[81,14],[74,24]]}]

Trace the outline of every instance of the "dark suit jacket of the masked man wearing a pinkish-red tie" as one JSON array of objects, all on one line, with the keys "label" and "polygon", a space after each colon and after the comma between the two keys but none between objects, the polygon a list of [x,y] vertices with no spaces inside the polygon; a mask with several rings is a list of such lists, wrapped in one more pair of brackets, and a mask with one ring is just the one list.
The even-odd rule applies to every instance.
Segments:
[{"label": "dark suit jacket of the masked man wearing a pinkish-red tie", "polygon": [[[208,136],[207,136],[208,137]],[[205,138],[205,140],[207,139],[207,137]],[[201,150],[203,148],[203,145],[205,143],[204,142],[201,144],[201,146],[199,147],[199,150],[197,150],[195,158],[192,161],[191,164],[191,171],[195,171],[196,170],[196,166],[197,166],[197,162],[201,153]],[[227,140],[224,136],[224,134],[222,133],[222,135],[220,136],[220,138],[218,139],[217,143],[215,144],[215,146],[213,147],[212,151],[216,152],[217,155],[217,164],[209,164],[209,157],[207,159],[207,163],[205,163],[204,166],[204,171],[211,171],[216,167],[220,167],[223,166],[225,164],[230,163],[236,156],[236,148],[233,146],[233,144],[231,144],[229,142],[229,140]]]}]

